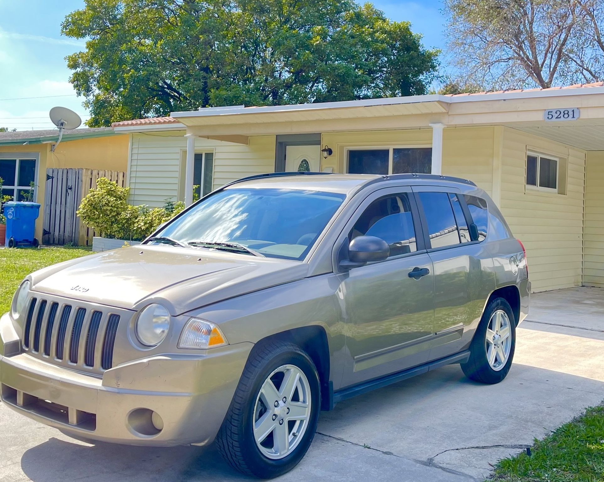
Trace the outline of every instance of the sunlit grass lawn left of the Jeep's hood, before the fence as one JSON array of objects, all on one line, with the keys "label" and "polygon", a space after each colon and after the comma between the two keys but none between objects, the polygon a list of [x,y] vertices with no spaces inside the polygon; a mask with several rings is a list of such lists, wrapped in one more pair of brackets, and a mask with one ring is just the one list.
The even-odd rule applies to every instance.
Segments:
[{"label": "sunlit grass lawn left of the Jeep's hood, before the fence", "polygon": [[10,309],[13,294],[28,274],[45,266],[91,254],[86,248],[0,249],[0,315]]}]

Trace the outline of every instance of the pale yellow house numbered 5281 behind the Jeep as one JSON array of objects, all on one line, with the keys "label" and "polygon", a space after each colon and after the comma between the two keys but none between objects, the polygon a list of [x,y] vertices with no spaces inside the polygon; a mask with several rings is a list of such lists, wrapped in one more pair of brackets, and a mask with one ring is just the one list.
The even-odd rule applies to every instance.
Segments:
[{"label": "pale yellow house numbered 5281 behind the Jeep", "polygon": [[[316,170],[471,179],[527,249],[534,291],[604,287],[604,83],[173,112],[129,133],[130,202],[190,204],[243,176]],[[197,188],[199,186],[199,188]]]}]

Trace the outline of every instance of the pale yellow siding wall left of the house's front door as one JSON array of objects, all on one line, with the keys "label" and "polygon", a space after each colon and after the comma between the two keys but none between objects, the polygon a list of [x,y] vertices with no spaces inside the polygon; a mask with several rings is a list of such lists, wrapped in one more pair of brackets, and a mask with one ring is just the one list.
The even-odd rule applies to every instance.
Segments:
[{"label": "pale yellow siding wall left of the house's front door", "polygon": [[[128,179],[130,204],[164,205],[184,199],[184,131],[132,134]],[[249,145],[197,138],[196,152],[214,152],[214,188],[236,179],[274,172],[275,136],[249,138]]]}]

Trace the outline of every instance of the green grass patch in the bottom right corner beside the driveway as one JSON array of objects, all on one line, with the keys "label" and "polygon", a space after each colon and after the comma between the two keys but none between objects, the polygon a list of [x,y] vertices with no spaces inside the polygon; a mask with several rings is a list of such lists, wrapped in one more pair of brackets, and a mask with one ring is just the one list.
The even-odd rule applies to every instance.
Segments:
[{"label": "green grass patch in the bottom right corner beside the driveway", "polygon": [[604,481],[604,406],[588,408],[580,417],[536,441],[524,452],[497,464],[498,482]]}]

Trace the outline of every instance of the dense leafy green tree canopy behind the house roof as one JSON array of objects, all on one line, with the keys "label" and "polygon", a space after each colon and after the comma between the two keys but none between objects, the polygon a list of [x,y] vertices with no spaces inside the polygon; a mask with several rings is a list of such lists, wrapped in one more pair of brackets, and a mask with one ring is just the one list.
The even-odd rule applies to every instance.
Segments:
[{"label": "dense leafy green tree canopy behind the house roof", "polygon": [[351,0],[86,0],[62,24],[89,126],[234,104],[425,94],[439,51]]}]

